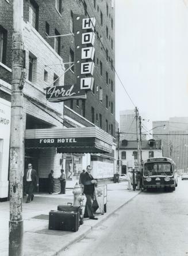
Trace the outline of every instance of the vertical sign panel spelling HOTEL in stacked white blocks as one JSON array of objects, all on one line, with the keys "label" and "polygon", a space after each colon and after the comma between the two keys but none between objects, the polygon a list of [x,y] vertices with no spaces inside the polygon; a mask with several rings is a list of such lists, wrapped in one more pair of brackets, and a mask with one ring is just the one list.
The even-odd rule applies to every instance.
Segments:
[{"label": "vertical sign panel spelling HOTEL in stacked white blocks", "polygon": [[76,84],[80,90],[93,89],[95,18],[74,14]]}]

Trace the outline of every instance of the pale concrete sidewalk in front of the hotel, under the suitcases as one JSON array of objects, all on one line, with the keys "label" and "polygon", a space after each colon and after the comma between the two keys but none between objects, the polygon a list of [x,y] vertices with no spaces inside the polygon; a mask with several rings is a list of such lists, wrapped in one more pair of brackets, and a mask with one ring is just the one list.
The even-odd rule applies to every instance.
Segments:
[{"label": "pale concrete sidewalk in front of the hotel, under the suitcases", "polygon": [[[48,230],[48,214],[56,210],[57,205],[73,202],[72,190],[65,195],[40,194],[35,195],[31,203],[23,199],[24,220],[24,255],[52,256],[58,255],[70,244],[82,238],[93,227],[101,224],[103,220],[116,212],[118,208],[133,199],[139,191],[126,190],[126,182],[108,184],[107,213],[97,214],[98,220],[84,219],[78,232]],[[84,200],[84,205],[86,198]],[[9,202],[0,203],[0,255],[8,255],[9,247]]]}]

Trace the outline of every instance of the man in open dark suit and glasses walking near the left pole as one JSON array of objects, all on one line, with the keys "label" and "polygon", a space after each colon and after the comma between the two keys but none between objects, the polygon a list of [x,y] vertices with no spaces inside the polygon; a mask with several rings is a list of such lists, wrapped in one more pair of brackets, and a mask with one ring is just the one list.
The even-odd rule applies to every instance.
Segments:
[{"label": "man in open dark suit and glasses walking near the left pole", "polygon": [[25,182],[25,192],[28,194],[28,198],[26,203],[30,203],[30,200],[33,201],[34,195],[33,191],[35,187],[38,187],[39,184],[37,182],[37,172],[36,170],[32,169],[32,164],[28,164],[28,169],[25,171],[24,175],[24,182]]}]

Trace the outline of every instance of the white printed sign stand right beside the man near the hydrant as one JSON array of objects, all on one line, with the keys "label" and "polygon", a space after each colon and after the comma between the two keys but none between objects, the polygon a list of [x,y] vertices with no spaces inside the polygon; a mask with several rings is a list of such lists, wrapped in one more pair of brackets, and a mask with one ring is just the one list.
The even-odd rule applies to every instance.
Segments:
[{"label": "white printed sign stand right beside the man near the hydrant", "polygon": [[106,213],[107,205],[107,185],[98,185],[95,187],[95,195],[101,214]]}]

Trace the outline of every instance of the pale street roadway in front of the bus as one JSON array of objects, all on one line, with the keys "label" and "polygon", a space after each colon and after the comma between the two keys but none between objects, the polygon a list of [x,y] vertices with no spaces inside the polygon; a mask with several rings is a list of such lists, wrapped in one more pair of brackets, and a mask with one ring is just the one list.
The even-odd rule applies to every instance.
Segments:
[{"label": "pale street roadway in front of the bus", "polygon": [[188,180],[174,192],[144,191],[59,256],[188,254]]}]

